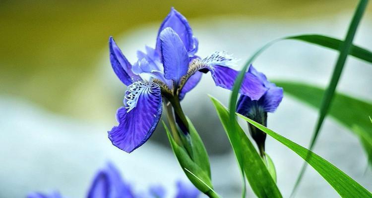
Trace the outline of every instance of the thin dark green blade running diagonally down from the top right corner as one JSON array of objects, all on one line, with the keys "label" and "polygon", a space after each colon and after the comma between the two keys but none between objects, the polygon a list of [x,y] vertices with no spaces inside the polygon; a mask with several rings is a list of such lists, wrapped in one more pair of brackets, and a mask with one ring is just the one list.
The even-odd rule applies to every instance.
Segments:
[{"label": "thin dark green blade running diagonally down from the top right corner", "polygon": [[[357,9],[354,13],[353,19],[350,23],[348,32],[346,34],[345,41],[342,42],[342,44],[340,46],[340,54],[337,58],[337,62],[336,62],[335,67],[333,69],[331,81],[330,81],[330,83],[328,85],[328,88],[325,91],[324,96],[321,100],[320,109],[319,109],[319,118],[317,120],[315,130],[314,130],[314,133],[313,133],[311,141],[310,141],[309,150],[312,150],[312,148],[314,147],[314,145],[316,143],[316,139],[317,139],[318,134],[320,132],[320,128],[323,124],[324,118],[327,115],[328,109],[331,105],[333,95],[335,93],[338,81],[340,79],[342,70],[343,70],[345,62],[346,62],[346,58],[347,58],[347,56],[350,52],[351,46],[353,45],[354,36],[355,36],[356,31],[357,31],[358,25],[359,25],[359,23],[362,19],[362,16],[364,14],[364,11],[366,10],[367,3],[368,3],[368,0],[360,0],[360,2],[358,4],[358,7],[357,7]],[[309,157],[311,157],[311,155],[309,155]],[[302,177],[305,173],[306,167],[307,167],[307,164],[304,163],[304,165],[303,165],[303,167],[300,171],[299,177],[298,177],[298,179],[295,183],[295,186],[292,190],[292,195],[295,195],[296,190],[297,190],[298,186],[300,185],[301,179],[302,179]],[[291,195],[291,197],[292,197],[292,195]]]}]

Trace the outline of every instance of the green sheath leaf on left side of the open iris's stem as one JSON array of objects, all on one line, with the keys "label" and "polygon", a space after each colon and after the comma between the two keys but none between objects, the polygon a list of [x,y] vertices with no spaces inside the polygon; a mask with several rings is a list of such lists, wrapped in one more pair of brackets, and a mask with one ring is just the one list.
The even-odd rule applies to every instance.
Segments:
[{"label": "green sheath leaf on left side of the open iris's stem", "polygon": [[[173,149],[173,152],[175,153],[178,162],[180,163],[182,170],[184,170],[187,178],[191,181],[191,183],[199,189],[201,192],[204,194],[208,195],[211,193],[210,188],[213,188],[212,182],[210,180],[210,177],[208,176],[208,173],[205,172],[202,168],[200,168],[192,159],[190,156],[187,154],[185,148],[180,147],[172,138],[169,129],[167,125],[163,121],[163,125],[165,128],[165,131],[167,132],[167,136],[169,139],[169,142],[171,143],[171,147]],[[194,175],[190,174],[189,171],[195,174],[197,177]],[[201,182],[201,181],[202,182]]]}]

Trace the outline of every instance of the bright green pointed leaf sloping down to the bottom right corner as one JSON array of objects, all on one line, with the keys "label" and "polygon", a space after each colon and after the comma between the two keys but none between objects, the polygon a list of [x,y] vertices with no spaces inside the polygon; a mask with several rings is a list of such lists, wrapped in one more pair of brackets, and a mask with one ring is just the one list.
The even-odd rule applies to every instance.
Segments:
[{"label": "bright green pointed leaf sloping down to the bottom right corner", "polygon": [[[372,194],[367,189],[365,189],[363,186],[358,184],[358,182],[354,181],[351,177],[346,175],[336,166],[329,163],[327,160],[323,159],[319,155],[288,140],[287,138],[275,133],[274,131],[254,122],[253,120],[243,115],[238,115],[300,155],[337,191],[337,193],[342,198],[372,198]],[[309,155],[311,157],[309,157]]]}]

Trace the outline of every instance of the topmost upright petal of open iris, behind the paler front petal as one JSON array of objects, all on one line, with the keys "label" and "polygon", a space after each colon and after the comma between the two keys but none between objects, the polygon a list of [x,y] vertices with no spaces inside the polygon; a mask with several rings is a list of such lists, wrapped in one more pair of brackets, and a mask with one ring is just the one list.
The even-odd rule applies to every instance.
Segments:
[{"label": "topmost upright petal of open iris, behind the paler front petal", "polygon": [[167,27],[172,28],[179,35],[187,51],[191,51],[197,48],[197,43],[195,43],[193,40],[192,30],[187,22],[187,19],[180,12],[178,12],[175,8],[172,7],[171,12],[164,19],[163,23],[159,28],[158,37],[156,41],[156,51],[158,51],[158,53],[160,53],[161,48],[159,38],[160,33]]}]

